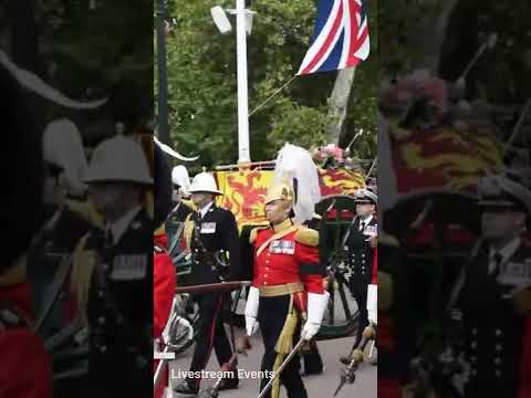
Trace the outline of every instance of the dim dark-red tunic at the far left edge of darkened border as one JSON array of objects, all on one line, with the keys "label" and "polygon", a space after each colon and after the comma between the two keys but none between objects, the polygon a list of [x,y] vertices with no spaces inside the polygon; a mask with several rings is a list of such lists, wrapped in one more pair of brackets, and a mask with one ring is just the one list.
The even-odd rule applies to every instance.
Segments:
[{"label": "dim dark-red tunic at the far left edge of darkened border", "polygon": [[[8,283],[7,279],[6,274],[0,276],[0,302],[30,318],[33,312],[28,282]],[[52,397],[50,356],[29,326],[10,326],[0,320],[0,397]]]}]

